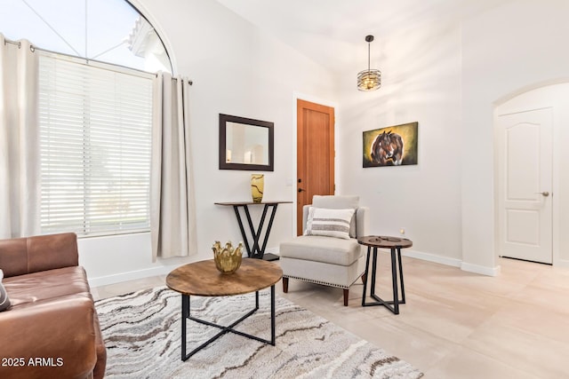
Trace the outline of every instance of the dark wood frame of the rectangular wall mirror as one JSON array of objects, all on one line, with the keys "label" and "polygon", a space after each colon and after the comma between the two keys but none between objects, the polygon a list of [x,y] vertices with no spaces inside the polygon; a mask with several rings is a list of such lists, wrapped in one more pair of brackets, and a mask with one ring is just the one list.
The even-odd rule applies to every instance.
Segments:
[{"label": "dark wood frame of the rectangular wall mirror", "polygon": [[[228,122],[242,123],[244,125],[258,126],[268,129],[268,164],[254,163],[231,163],[227,162],[227,126]],[[220,114],[220,170],[275,170],[275,123],[268,121],[253,120],[251,118],[237,117],[235,115]]]}]

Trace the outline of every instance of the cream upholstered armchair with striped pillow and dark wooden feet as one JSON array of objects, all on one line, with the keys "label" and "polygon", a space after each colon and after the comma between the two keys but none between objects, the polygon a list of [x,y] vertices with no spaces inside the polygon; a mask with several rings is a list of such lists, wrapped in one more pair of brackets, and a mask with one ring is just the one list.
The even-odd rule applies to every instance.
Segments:
[{"label": "cream upholstered armchair with striped pillow and dark wooden feet", "polygon": [[349,287],[365,272],[365,251],[357,237],[365,236],[369,209],[358,196],[314,196],[304,206],[304,235],[280,244],[283,292],[289,279],[342,288],[348,306]]}]

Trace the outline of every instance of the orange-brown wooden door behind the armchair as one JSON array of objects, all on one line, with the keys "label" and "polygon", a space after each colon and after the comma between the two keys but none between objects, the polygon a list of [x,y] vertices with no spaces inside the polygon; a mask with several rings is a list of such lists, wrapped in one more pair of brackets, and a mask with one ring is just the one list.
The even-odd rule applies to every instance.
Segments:
[{"label": "orange-brown wooden door behind the armchair", "polygon": [[334,193],[334,108],[297,100],[297,234],[302,207]]}]

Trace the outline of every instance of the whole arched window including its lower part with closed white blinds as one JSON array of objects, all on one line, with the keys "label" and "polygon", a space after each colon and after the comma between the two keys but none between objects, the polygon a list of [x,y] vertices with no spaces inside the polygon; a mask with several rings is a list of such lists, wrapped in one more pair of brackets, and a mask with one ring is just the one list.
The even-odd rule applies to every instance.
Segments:
[{"label": "whole arched window including its lower part with closed white blinds", "polygon": [[148,232],[156,30],[124,0],[1,1],[0,33],[39,55],[41,232]]}]

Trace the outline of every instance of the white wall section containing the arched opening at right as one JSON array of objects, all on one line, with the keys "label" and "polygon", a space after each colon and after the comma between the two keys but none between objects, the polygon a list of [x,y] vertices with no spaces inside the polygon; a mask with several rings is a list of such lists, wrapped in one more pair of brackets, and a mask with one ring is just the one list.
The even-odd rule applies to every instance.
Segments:
[{"label": "white wall section containing the arched opening at right", "polygon": [[[569,2],[518,0],[462,26],[462,259],[496,268],[493,108],[569,77]],[[484,271],[484,270],[483,270]]]}]

